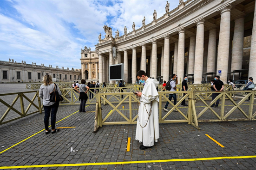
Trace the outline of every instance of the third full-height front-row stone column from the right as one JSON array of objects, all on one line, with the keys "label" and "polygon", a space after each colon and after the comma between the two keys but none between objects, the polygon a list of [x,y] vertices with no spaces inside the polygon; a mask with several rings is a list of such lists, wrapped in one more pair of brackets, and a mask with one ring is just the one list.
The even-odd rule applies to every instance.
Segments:
[{"label": "third full-height front-row stone column from the right", "polygon": [[[179,30],[177,74],[179,77],[184,76],[184,52],[185,52],[185,29]],[[181,83],[181,82],[178,82]]]}]

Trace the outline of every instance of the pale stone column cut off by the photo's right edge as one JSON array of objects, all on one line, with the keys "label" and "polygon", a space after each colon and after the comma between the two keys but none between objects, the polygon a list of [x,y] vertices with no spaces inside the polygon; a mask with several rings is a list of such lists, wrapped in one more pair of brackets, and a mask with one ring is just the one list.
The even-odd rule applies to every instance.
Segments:
[{"label": "pale stone column cut off by the photo's right edge", "polygon": [[251,34],[251,50],[250,50],[250,61],[249,61],[249,77],[256,77],[256,5],[254,9],[254,18],[252,25]]}]

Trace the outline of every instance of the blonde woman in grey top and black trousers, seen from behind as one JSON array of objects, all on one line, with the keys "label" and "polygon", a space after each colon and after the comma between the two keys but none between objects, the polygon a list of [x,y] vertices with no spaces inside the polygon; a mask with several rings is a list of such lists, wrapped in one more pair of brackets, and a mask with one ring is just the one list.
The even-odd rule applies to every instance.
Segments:
[{"label": "blonde woman in grey top and black trousers, seen from behind", "polygon": [[[55,88],[57,88],[57,91],[59,93],[59,96],[61,95],[61,91],[59,90],[58,85],[53,83],[53,79],[51,75],[46,74],[43,78],[43,84],[40,86],[39,89],[39,97],[43,98],[43,107],[45,109],[45,129],[46,134],[49,134],[52,132],[52,134],[59,132],[59,129],[55,128],[56,124],[56,114],[59,108],[59,102],[50,102],[50,93],[54,91]],[[56,87],[55,87],[56,85]],[[49,129],[49,118],[51,114],[51,126],[52,131]]]}]

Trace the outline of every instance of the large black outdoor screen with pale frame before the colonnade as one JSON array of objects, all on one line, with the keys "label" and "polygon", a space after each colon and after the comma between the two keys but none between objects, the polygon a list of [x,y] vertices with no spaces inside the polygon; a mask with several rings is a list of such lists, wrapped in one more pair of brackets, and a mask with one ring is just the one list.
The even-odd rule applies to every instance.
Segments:
[{"label": "large black outdoor screen with pale frame before the colonnade", "polygon": [[124,64],[115,64],[109,66],[109,80],[123,80],[124,79]]}]

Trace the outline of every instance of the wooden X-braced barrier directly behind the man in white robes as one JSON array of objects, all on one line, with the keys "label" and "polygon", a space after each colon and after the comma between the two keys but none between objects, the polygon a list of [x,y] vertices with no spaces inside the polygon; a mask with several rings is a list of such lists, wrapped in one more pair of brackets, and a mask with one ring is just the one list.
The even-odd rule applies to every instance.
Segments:
[{"label": "wooden X-braced barrier directly behind the man in white robes", "polygon": [[[184,92],[186,94],[183,96]],[[254,104],[256,93],[255,91],[244,92],[248,94],[242,97],[241,91],[158,91],[159,123],[187,122],[200,129],[198,126],[200,122],[256,120],[256,104]],[[181,96],[176,104],[173,100],[169,100],[170,93]],[[211,101],[213,93],[219,95]],[[235,101],[230,93],[241,97]],[[124,98],[116,97],[120,95],[124,95]],[[249,96],[250,102],[246,102]],[[132,92],[98,93],[97,98],[95,127],[137,123],[139,105],[137,97]],[[218,99],[220,99],[218,107],[211,107]],[[188,103],[187,107],[180,105],[183,100]],[[164,112],[163,108],[167,101],[169,111]],[[103,105],[104,102],[105,105]],[[94,131],[96,132],[98,128]]]}]

